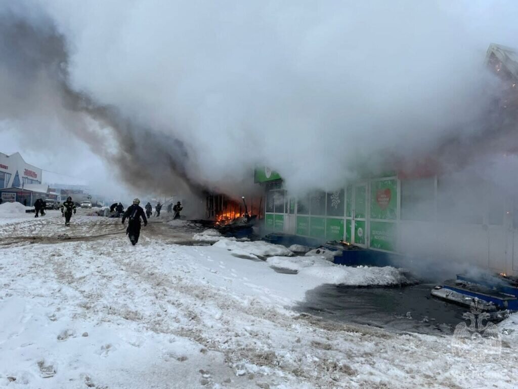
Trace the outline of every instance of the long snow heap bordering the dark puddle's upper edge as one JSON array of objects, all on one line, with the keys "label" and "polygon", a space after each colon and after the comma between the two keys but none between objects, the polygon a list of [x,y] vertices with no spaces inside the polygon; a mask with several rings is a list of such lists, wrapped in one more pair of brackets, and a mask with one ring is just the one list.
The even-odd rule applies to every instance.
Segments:
[{"label": "long snow heap bordering the dark puddle's upper edge", "polygon": [[266,260],[276,268],[296,270],[299,276],[313,279],[316,283],[349,286],[389,286],[408,284],[410,281],[398,269],[358,266],[357,268],[335,265],[316,256],[271,257]]}]

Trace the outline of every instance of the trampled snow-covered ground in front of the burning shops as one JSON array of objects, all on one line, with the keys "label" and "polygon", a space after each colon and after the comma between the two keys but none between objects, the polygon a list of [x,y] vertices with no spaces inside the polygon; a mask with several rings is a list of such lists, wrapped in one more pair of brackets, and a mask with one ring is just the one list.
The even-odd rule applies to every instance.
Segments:
[{"label": "trampled snow-covered ground in front of the burning shops", "polygon": [[397,283],[396,269],[264,242],[179,245],[198,231],[157,220],[133,247],[119,219],[59,216],[0,215],[0,387],[516,388],[514,316],[501,352],[473,361],[451,336],[290,310],[322,283]]}]

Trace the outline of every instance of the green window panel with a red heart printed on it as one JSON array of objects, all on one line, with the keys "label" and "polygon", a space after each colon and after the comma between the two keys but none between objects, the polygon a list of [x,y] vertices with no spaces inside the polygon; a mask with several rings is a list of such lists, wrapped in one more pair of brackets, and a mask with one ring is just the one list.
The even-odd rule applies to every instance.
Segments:
[{"label": "green window panel with a red heart printed on it", "polygon": [[370,188],[370,218],[397,218],[397,179],[373,181]]}]

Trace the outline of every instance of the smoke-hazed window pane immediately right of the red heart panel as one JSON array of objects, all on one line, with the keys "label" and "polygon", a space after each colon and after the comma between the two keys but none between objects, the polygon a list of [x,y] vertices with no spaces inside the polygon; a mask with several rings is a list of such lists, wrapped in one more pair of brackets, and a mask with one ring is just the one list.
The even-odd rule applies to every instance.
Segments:
[{"label": "smoke-hazed window pane immediately right of the red heart panel", "polygon": [[435,177],[401,181],[401,219],[435,220]]}]

